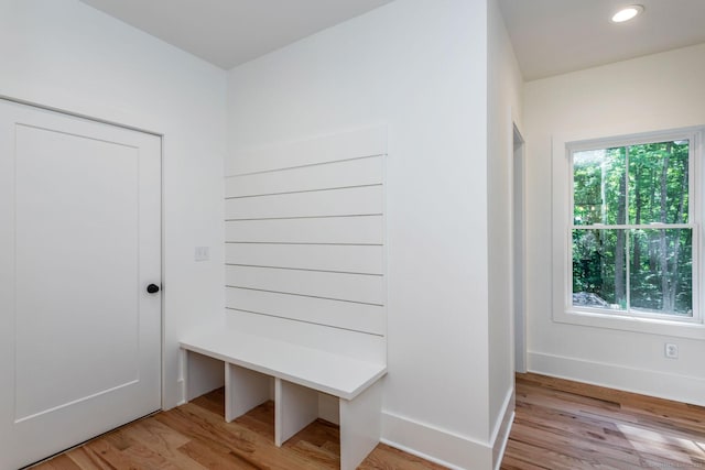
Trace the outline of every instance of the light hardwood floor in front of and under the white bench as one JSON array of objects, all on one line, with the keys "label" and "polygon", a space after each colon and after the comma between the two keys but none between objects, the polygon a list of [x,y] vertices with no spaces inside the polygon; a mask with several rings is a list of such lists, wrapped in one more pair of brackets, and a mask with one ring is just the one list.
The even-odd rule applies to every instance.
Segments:
[{"label": "light hardwood floor in front of and under the white bench", "polygon": [[[134,422],[94,439],[36,470],[198,469],[324,470],[340,461],[338,427],[318,419],[274,446],[274,405],[261,405],[226,423],[223,389],[169,412]],[[417,457],[382,444],[359,469],[441,470]]]}]

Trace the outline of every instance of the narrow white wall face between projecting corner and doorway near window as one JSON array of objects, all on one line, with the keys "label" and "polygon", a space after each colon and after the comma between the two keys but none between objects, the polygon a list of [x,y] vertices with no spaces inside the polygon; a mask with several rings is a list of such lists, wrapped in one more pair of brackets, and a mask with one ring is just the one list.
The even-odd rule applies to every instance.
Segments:
[{"label": "narrow white wall face between projecting corner and doorway near window", "polygon": [[514,409],[512,205],[513,123],[521,129],[523,79],[498,2],[488,2],[489,413],[496,452]]}]

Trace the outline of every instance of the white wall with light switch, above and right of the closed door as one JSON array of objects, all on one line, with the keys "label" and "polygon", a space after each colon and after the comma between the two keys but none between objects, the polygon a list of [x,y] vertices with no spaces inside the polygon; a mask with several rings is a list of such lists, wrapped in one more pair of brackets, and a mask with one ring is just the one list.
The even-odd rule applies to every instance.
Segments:
[{"label": "white wall with light switch, above and right of the closed door", "polygon": [[[164,403],[177,340],[223,316],[225,72],[77,0],[0,0],[0,95],[162,133]],[[194,262],[194,247],[210,247]]]}]

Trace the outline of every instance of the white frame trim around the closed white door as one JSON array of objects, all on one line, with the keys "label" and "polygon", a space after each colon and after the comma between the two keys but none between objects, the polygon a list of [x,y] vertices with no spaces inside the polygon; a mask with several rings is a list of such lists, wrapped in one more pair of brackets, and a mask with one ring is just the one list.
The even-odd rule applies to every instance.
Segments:
[{"label": "white frame trim around the closed white door", "polygon": [[117,121],[111,121],[108,119],[102,119],[102,118],[97,118],[95,116],[89,116],[89,114],[84,114],[80,112],[75,112],[75,111],[70,111],[64,108],[56,108],[56,107],[52,107],[52,106],[46,106],[46,105],[42,105],[39,102],[34,102],[34,101],[29,101],[25,99],[21,99],[21,98],[14,98],[8,95],[2,95],[0,94],[0,100],[3,101],[10,101],[10,102],[14,102],[18,105],[22,105],[22,106],[29,106],[32,108],[37,108],[37,109],[42,109],[42,110],[46,110],[46,111],[52,111],[52,112],[58,112],[65,116],[69,116],[72,118],[79,118],[79,119],[86,119],[93,122],[98,122],[101,124],[108,124],[108,125],[113,125],[117,128],[121,128],[121,129],[127,129],[130,131],[135,131],[135,132],[142,132],[145,134],[150,134],[150,135],[154,135],[156,138],[159,138],[160,141],[160,188],[159,188],[159,194],[160,194],[160,201],[159,201],[159,207],[160,207],[160,277],[161,277],[161,291],[160,291],[160,398],[161,398],[161,403],[160,403],[160,408],[163,409],[164,408],[164,403],[165,403],[165,392],[164,392],[164,384],[165,384],[165,332],[164,332],[164,327],[165,327],[165,305],[166,305],[166,293],[164,289],[164,258],[165,258],[165,253],[164,253],[164,247],[165,247],[165,233],[164,233],[164,227],[165,227],[165,221],[164,221],[164,133],[162,132],[156,132],[156,131],[152,131],[149,129],[144,129],[144,128],[139,128],[139,127],[134,127],[134,125],[130,125],[130,124],[126,124],[122,122],[117,122]]}]

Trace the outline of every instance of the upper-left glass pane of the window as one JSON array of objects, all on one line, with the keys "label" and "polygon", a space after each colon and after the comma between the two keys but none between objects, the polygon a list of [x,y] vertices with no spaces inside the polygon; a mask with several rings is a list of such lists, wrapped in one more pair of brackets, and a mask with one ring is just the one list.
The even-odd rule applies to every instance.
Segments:
[{"label": "upper-left glass pane of the window", "polygon": [[576,226],[625,223],[626,147],[573,153],[573,220]]}]

